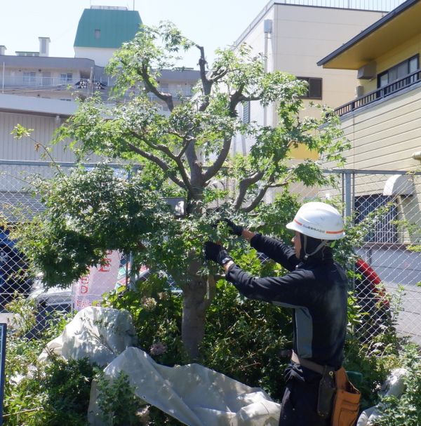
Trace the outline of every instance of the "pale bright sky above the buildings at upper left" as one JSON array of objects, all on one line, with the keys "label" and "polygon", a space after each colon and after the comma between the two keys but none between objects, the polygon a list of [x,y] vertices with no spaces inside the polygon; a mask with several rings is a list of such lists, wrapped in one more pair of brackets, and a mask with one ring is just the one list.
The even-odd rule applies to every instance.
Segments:
[{"label": "pale bright sky above the buildings at upper left", "polygon": [[[190,39],[205,46],[208,59],[215,48],[233,43],[268,0],[135,0],[145,25],[171,20]],[[133,0],[0,0],[0,45],[6,55],[39,51],[39,36],[51,39],[50,56],[74,56],[74,37],[84,8],[127,6]],[[186,66],[193,67],[196,60]]]}]

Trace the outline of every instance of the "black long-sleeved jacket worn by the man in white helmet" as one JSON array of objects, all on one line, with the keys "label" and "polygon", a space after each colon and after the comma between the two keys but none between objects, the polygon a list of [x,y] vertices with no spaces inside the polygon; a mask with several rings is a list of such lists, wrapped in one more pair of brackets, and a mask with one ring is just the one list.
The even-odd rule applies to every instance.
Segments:
[{"label": "black long-sleeved jacket worn by the man in white helmet", "polygon": [[255,278],[233,265],[226,278],[246,298],[294,309],[294,351],[317,364],[339,368],[347,328],[347,276],[328,253],[305,262],[281,241],[256,234],[250,244],[290,271]]}]

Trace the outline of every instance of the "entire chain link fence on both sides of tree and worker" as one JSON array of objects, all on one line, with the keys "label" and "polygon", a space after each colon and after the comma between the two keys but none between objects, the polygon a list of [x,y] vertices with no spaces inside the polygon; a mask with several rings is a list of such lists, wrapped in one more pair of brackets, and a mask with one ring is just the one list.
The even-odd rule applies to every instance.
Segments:
[{"label": "entire chain link fence on both sides of tree and worker", "polygon": [[[63,173],[73,164],[59,163]],[[95,164],[88,164],[95,167]],[[122,166],[112,165],[121,173]],[[29,175],[51,178],[57,170],[48,162],[0,161],[0,212],[4,225],[23,217],[28,220],[43,209],[32,196]],[[323,188],[295,185],[290,189],[302,201],[338,199],[350,222],[363,229],[361,244],[356,248],[352,286],[363,313],[361,336],[371,337],[385,327],[396,326],[401,335],[421,343],[421,173],[400,171],[326,171],[335,184]],[[18,212],[18,213],[17,213]],[[53,312],[72,312],[100,300],[102,293],[118,285],[128,285],[130,259],[119,253],[108,253],[102,267],[91,270],[78,283],[65,289],[46,291],[41,278],[28,279],[25,258],[8,237],[6,227],[0,229],[0,321],[10,316],[7,304],[16,295],[34,300],[36,335],[45,328]],[[108,287],[95,286],[95,274]],[[140,279],[147,279],[147,270]],[[107,279],[105,279],[107,277]],[[111,280],[111,281],[110,281]],[[169,282],[170,287],[174,286]],[[179,294],[177,288],[174,293]]]}]

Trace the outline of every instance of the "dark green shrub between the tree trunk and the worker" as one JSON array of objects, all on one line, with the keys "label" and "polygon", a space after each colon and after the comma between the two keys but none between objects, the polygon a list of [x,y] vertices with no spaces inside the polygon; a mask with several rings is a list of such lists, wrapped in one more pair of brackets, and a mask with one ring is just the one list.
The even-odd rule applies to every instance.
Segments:
[{"label": "dark green shrub between the tree trunk and the worker", "polygon": [[274,305],[242,298],[236,288],[219,281],[206,319],[201,364],[262,387],[280,401],[288,359],[279,352],[291,347],[290,314]]}]

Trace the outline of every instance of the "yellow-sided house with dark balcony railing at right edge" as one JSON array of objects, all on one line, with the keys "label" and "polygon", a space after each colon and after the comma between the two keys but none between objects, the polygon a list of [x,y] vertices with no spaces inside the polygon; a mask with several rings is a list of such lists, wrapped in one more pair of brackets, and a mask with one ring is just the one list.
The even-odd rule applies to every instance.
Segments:
[{"label": "yellow-sided house with dark balcony railing at right edge", "polygon": [[[420,19],[421,1],[405,1],[318,62],[324,69],[357,72],[358,96],[335,109],[352,144],[345,153],[349,168],[389,173],[420,170]],[[396,218],[421,225],[417,175],[392,174],[377,185],[368,185],[369,180],[363,175],[356,178],[357,201],[369,200],[374,206],[399,197]],[[395,232],[387,242],[418,239],[419,232]]]}]

